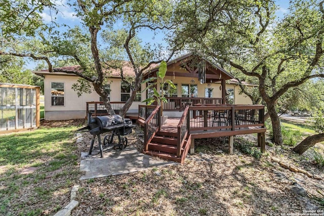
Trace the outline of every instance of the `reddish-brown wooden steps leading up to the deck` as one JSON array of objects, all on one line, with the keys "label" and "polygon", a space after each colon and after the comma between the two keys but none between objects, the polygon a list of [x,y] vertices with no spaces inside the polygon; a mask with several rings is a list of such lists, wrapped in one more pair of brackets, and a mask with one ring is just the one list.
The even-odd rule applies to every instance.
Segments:
[{"label": "reddish-brown wooden steps leading up to the deck", "polygon": [[144,151],[144,153],[183,164],[190,149],[190,141],[191,136],[185,140],[181,148],[181,157],[177,157],[177,133],[159,131],[148,144],[148,151]]}]

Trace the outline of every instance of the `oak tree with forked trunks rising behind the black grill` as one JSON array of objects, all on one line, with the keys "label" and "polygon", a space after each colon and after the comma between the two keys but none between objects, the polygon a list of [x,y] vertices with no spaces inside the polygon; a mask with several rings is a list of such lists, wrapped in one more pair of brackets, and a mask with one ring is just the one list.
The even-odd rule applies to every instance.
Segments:
[{"label": "oak tree with forked trunks rising behind the black grill", "polygon": [[[35,7],[31,7],[33,4],[30,1],[16,3],[6,0],[6,3],[8,10],[16,12],[23,8],[24,13],[20,15],[22,21],[18,23],[11,23],[12,14],[6,14],[5,19],[1,20],[3,24],[1,37],[4,42],[1,45],[0,55],[43,60],[47,63],[49,72],[65,72],[79,76],[79,83],[75,85],[75,89],[91,91],[89,89],[91,87],[103,99],[108,113],[111,114],[114,111],[104,89],[109,76],[106,72],[110,69],[119,69],[121,79],[126,81],[132,90],[130,98],[119,112],[123,116],[126,115],[140,88],[143,71],[151,64],[159,62],[153,59],[158,59],[156,56],[160,53],[149,46],[139,47],[136,35],[145,28],[156,31],[172,27],[170,24],[172,2],[167,0],[72,1],[69,6],[74,8],[81,27],[65,26],[65,31],[56,28],[56,23],[45,25],[39,16],[46,7],[59,12],[56,2],[39,1],[37,2],[39,5]],[[116,55],[107,52],[106,49],[113,45],[105,44],[111,41],[101,34],[103,31],[116,30],[116,22],[122,23],[123,26],[119,30],[124,31],[124,34],[117,39],[119,44],[115,45],[118,46],[117,49],[124,49],[123,60],[128,60],[134,70],[135,76],[131,81],[124,77],[120,61],[118,64],[112,63],[116,62],[114,59]],[[9,28],[11,24],[12,27]],[[169,60],[173,53],[174,50],[171,50],[166,59]],[[54,68],[53,61],[58,60],[78,64],[79,68],[76,70]]]}]

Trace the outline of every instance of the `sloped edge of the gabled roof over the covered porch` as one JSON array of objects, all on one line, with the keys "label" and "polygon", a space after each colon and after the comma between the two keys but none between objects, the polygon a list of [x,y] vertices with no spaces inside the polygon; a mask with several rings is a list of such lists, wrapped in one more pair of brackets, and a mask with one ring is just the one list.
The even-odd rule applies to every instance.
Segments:
[{"label": "sloped edge of the gabled roof over the covered porch", "polygon": [[[188,54],[186,54],[186,55],[183,55],[183,56],[180,56],[180,57],[178,57],[178,58],[176,58],[176,59],[173,59],[173,60],[171,60],[171,61],[169,61],[168,63],[167,63],[167,66],[168,67],[170,67],[170,66],[172,66],[173,64],[177,64],[177,63],[179,63],[179,62],[181,62],[181,61],[183,61],[183,60],[188,60],[188,59],[192,59],[193,57],[198,57],[199,59],[201,59],[201,60],[205,60],[209,65],[211,65],[213,68],[215,68],[219,73],[221,73],[221,76],[223,76],[225,79],[232,79],[232,78],[234,78],[234,76],[231,74],[231,73],[229,73],[229,72],[227,72],[224,68],[221,68],[221,67],[219,67],[218,65],[216,65],[216,64],[214,64],[213,62],[210,62],[208,59],[206,59],[203,55],[201,55],[201,54],[199,54],[199,53],[197,53],[197,52],[191,52],[191,53],[188,53]],[[144,77],[147,77],[149,74],[152,74],[153,72],[156,72],[156,71],[158,71],[158,66],[157,67],[155,67],[155,68],[153,68],[153,69],[151,69],[151,70],[149,70],[149,71],[147,71],[147,72],[145,72],[144,73]]]}]

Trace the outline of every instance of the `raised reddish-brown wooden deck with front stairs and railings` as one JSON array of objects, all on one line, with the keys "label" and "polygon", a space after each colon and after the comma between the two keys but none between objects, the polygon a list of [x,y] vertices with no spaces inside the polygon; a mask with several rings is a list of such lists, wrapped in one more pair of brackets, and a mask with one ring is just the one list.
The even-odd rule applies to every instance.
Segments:
[{"label": "raised reddish-brown wooden deck with front stairs and railings", "polygon": [[145,154],[183,163],[189,150],[194,153],[195,139],[214,137],[228,137],[228,153],[232,154],[233,136],[242,134],[258,134],[258,147],[265,152],[263,105],[187,106],[181,118],[169,118],[164,125],[159,106],[141,109],[138,121],[144,126]]}]

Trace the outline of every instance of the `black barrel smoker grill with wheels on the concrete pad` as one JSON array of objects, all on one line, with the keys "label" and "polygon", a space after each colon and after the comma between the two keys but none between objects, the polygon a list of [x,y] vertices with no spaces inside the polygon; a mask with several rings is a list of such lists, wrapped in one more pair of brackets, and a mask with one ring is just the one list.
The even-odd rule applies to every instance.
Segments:
[{"label": "black barrel smoker grill with wheels on the concrete pad", "polygon": [[[89,132],[93,135],[91,140],[91,145],[89,149],[89,155],[91,155],[93,150],[93,145],[96,137],[98,138],[100,155],[103,157],[103,147],[112,147],[113,149],[124,149],[128,144],[126,137],[121,137],[129,135],[132,133],[132,128],[135,125],[132,124],[132,120],[128,118],[123,118],[120,115],[106,115],[92,117],[91,113],[88,114],[88,125],[78,129],[80,132]],[[104,133],[111,132],[104,138],[103,145],[101,143],[100,135]],[[118,143],[113,143],[113,137],[118,136]]]}]

